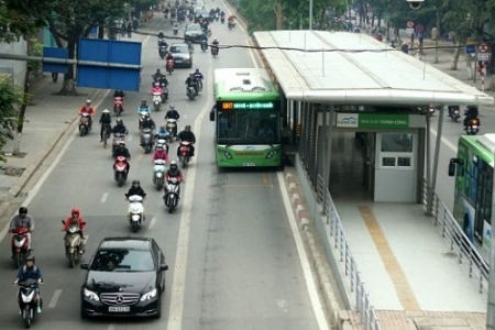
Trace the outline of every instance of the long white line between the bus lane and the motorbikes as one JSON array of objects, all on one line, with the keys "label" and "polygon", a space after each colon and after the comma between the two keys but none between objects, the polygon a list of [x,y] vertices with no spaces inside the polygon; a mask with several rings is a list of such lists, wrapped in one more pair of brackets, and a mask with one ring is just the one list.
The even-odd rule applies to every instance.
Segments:
[{"label": "long white line between the bus lane and the motorbikes", "polygon": [[[212,76],[212,67],[209,66],[208,77]],[[195,121],[194,132],[196,132],[196,136],[200,136],[201,132],[201,122],[205,116],[210,111],[210,107],[212,102],[212,85],[208,86],[208,99],[202,108],[201,112],[198,113],[198,117]],[[193,166],[189,166],[186,172],[186,187],[184,191],[184,198],[182,200],[191,201],[194,197],[195,182],[196,182],[196,165],[199,164],[199,152],[200,150],[196,148],[196,162]],[[190,218],[191,218],[191,206],[193,202],[183,202],[182,211],[183,215],[180,217],[180,229],[177,241],[177,254],[175,257],[175,267],[174,267],[174,278],[172,280],[172,297],[170,297],[170,311],[168,314],[167,320],[167,330],[182,330],[183,327],[183,314],[184,314],[184,292],[186,288],[186,268],[187,268],[187,253],[189,248],[189,230],[190,230]]]}]

